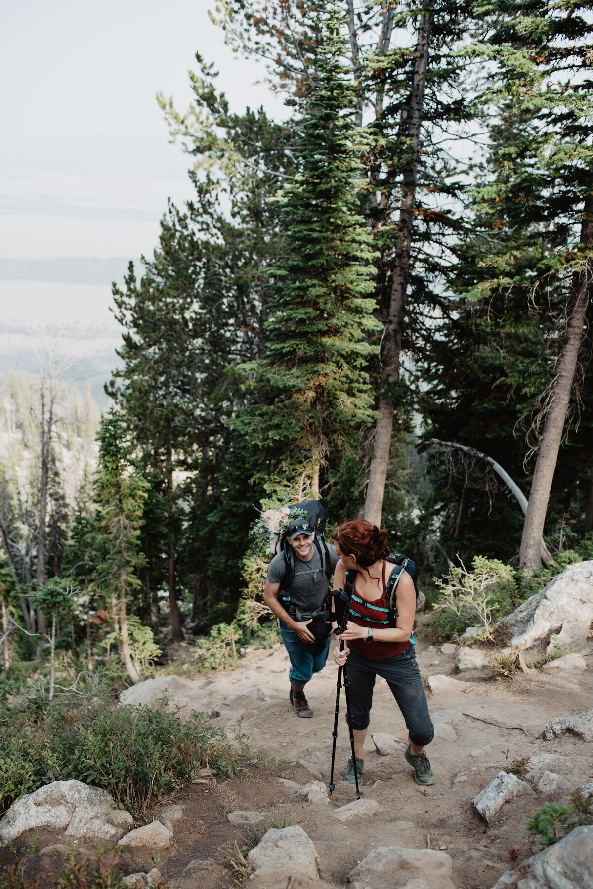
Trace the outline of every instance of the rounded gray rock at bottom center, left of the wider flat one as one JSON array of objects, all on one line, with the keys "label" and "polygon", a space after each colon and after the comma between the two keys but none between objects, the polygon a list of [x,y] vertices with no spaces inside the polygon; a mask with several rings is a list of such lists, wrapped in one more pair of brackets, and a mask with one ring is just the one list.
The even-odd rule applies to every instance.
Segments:
[{"label": "rounded gray rock at bottom center, left of the wider flat one", "polygon": [[317,852],[298,825],[270,828],[247,855],[253,873],[250,885],[270,885],[298,874],[303,881],[317,880]]}]

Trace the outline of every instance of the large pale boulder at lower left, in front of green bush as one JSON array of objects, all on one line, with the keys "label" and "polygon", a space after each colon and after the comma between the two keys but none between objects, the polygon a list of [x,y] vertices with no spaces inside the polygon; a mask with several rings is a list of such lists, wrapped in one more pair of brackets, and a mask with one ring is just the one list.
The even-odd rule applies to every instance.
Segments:
[{"label": "large pale boulder at lower left, in front of green bush", "polygon": [[0,845],[27,830],[54,830],[63,837],[116,843],[133,827],[132,815],[112,808],[107,790],[82,781],[52,781],[12,803],[0,821]]}]

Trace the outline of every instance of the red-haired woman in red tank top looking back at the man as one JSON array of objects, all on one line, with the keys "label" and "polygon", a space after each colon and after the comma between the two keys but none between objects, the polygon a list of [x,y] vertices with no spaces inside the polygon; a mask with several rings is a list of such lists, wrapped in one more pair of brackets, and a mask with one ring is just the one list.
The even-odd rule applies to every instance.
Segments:
[{"label": "red-haired woman in red tank top looking back at the man", "polygon": [[386,531],[380,531],[364,519],[345,522],[333,535],[340,557],[334,589],[344,589],[346,573],[356,572],[347,629],[339,637],[344,640],[344,650],[335,648],[333,652],[338,666],[346,664],[349,678],[356,764],[349,757],[345,780],[355,783],[356,768],[358,783],[362,783],[363,745],[370,722],[375,678],[380,676],[387,681],[405,719],[409,742],[405,761],[413,767],[414,781],[426,787],[435,783],[424,751],[434,737],[434,728],[411,643],[416,592],[412,578],[402,571],[396,588],[395,626],[389,626],[387,586],[397,566],[386,561],[387,540]]}]

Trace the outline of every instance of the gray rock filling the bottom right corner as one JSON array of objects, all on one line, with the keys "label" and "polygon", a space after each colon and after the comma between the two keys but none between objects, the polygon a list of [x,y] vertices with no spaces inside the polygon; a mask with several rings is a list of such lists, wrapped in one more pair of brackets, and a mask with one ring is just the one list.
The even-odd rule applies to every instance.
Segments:
[{"label": "gray rock filling the bottom right corner", "polygon": [[493,889],[592,889],[593,827],[581,827],[543,849],[515,870],[502,874]]}]

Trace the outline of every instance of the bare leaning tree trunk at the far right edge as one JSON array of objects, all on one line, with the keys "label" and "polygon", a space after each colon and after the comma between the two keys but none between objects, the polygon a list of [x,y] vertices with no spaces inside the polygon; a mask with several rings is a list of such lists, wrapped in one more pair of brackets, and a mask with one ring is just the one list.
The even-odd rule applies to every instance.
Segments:
[{"label": "bare leaning tree trunk at the far right edge", "polygon": [[[593,243],[593,197],[588,196],[583,209],[581,244]],[[558,451],[565,428],[566,413],[573,390],[574,372],[581,348],[581,339],[587,303],[591,264],[581,272],[575,272],[570,299],[566,311],[565,341],[560,350],[557,377],[551,391],[546,420],[541,433],[540,449],[533,472],[529,493],[529,505],[525,515],[519,567],[521,571],[537,571],[541,567],[540,541],[548,511],[549,492],[554,479]]]}]

